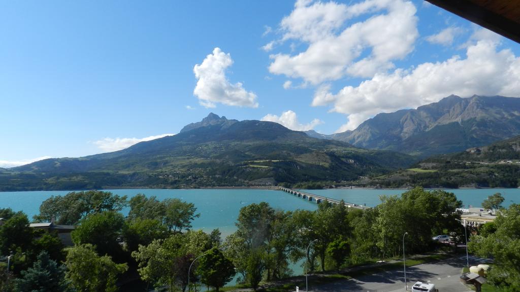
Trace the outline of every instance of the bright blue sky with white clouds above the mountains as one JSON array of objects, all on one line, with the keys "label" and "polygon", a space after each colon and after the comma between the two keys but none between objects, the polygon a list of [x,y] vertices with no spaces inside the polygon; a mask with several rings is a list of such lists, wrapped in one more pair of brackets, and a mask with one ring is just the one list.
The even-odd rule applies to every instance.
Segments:
[{"label": "bright blue sky with white clouds above the mountains", "polygon": [[0,167],[210,112],[324,134],[520,92],[520,47],[423,1],[0,1]]}]

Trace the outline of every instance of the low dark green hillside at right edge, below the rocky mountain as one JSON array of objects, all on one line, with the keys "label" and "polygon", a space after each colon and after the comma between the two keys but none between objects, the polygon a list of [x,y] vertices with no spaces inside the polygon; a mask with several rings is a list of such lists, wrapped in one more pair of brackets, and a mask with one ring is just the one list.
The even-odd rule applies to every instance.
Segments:
[{"label": "low dark green hillside at right edge, below the rocky mountain", "polygon": [[384,187],[502,187],[520,185],[520,136],[459,153],[429,157],[407,170],[374,177]]}]

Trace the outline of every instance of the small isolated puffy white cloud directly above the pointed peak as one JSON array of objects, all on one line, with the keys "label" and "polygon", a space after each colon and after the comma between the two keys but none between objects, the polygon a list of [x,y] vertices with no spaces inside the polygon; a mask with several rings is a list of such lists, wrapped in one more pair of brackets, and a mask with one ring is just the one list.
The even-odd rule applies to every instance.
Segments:
[{"label": "small isolated puffy white cloud directly above the pointed peak", "polygon": [[235,105],[238,107],[257,108],[256,95],[242,87],[242,83],[231,84],[226,77],[226,69],[233,60],[220,48],[213,49],[213,54],[207,55],[201,64],[195,65],[193,73],[197,85],[193,95],[199,98],[199,103],[205,108],[214,108],[215,103]]}]

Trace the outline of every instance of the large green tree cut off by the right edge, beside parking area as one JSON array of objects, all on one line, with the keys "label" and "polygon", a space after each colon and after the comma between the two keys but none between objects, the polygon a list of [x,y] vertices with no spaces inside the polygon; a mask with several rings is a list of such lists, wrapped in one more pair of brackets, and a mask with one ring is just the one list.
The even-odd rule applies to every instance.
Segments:
[{"label": "large green tree cut off by the right edge, beside parking area", "polygon": [[470,250],[494,258],[488,281],[503,291],[520,291],[520,205],[512,204],[494,220],[496,231],[472,236]]}]

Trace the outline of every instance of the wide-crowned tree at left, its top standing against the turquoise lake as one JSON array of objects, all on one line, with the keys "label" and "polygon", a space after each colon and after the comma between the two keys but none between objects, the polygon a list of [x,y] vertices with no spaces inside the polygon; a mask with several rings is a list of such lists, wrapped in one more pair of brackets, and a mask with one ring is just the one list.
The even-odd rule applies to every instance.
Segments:
[{"label": "wide-crowned tree at left, its top standing against the turquoise lake", "polygon": [[40,205],[40,214],[35,222],[48,222],[56,217],[58,224],[75,225],[89,214],[103,211],[120,211],[127,206],[126,196],[111,192],[82,191],[70,192],[64,196],[51,196]]}]

